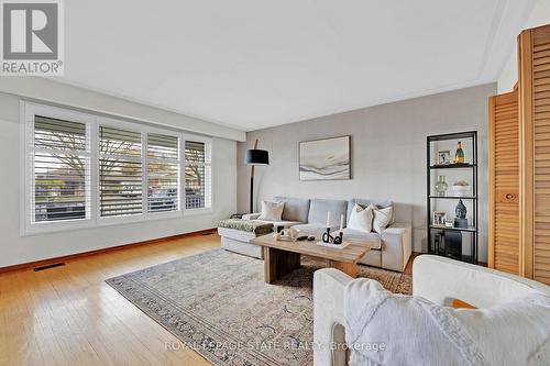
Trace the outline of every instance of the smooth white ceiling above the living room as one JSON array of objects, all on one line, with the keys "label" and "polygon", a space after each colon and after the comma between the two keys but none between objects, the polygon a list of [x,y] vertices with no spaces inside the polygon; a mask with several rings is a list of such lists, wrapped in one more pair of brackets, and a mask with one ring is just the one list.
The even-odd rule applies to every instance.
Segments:
[{"label": "smooth white ceiling above the living room", "polygon": [[70,0],[62,81],[252,131],[494,81],[532,5]]}]

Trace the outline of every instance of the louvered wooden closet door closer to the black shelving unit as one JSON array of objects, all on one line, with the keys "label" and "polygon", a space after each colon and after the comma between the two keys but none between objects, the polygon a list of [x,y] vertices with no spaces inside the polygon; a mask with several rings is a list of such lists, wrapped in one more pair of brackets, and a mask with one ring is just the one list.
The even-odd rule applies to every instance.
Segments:
[{"label": "louvered wooden closet door closer to the black shelving unit", "polygon": [[520,274],[518,92],[488,100],[490,242],[488,266]]}]

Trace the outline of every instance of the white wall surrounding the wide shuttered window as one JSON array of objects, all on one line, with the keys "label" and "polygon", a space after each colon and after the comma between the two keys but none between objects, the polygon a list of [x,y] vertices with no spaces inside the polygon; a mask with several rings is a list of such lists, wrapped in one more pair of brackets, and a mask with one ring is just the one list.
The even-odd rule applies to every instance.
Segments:
[{"label": "white wall surrounding the wide shuttered window", "polygon": [[[3,79],[2,79],[3,81]],[[20,236],[19,97],[0,93],[0,267],[216,228],[234,212],[237,142],[213,138],[213,212],[182,219]]]}]

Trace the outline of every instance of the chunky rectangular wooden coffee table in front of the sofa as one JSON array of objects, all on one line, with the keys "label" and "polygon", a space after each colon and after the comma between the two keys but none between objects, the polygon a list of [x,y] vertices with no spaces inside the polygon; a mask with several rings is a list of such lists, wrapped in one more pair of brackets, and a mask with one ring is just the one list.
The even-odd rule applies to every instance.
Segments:
[{"label": "chunky rectangular wooden coffee table in front of the sofa", "polygon": [[264,280],[273,284],[284,275],[300,267],[300,256],[324,259],[327,267],[337,268],[349,276],[358,276],[358,260],[371,249],[370,245],[350,244],[342,249],[319,246],[316,241],[277,241],[274,234],[253,239],[251,244],[264,248]]}]

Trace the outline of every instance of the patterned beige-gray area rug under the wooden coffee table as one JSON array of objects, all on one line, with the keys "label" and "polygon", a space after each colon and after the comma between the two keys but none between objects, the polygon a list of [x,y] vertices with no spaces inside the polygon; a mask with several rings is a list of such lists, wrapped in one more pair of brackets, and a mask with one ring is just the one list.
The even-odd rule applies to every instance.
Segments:
[{"label": "patterned beige-gray area rug under the wooden coffee table", "polygon": [[[274,285],[263,260],[215,249],[107,282],[215,365],[311,365],[312,275],[302,267]],[[409,275],[360,266],[359,275],[410,293]]]}]

